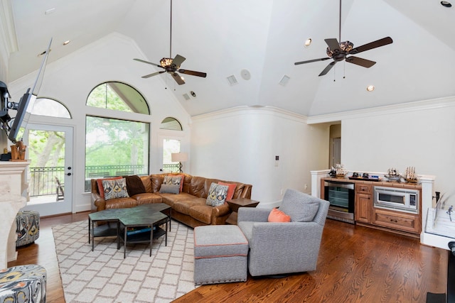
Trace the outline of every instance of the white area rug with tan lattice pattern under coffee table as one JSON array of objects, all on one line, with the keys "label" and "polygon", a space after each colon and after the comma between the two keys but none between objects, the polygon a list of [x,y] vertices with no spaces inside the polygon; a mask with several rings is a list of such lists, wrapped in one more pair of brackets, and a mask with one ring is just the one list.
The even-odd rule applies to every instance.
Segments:
[{"label": "white area rug with tan lattice pattern under coffee table", "polygon": [[88,222],[53,226],[55,249],[67,303],[171,302],[194,290],[193,229],[172,221],[168,243],[164,236],[149,246],[136,244],[117,250],[115,237],[88,243]]}]

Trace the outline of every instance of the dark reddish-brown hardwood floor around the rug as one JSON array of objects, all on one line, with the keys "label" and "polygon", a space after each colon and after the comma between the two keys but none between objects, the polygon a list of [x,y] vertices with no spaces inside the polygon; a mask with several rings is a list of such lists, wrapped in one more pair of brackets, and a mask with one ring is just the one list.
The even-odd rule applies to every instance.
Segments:
[{"label": "dark reddish-brown hardwood floor around the rug", "polygon": [[[43,265],[48,303],[65,302],[51,226],[87,215],[41,218],[40,238],[8,263]],[[427,292],[446,291],[447,261],[447,250],[418,239],[327,219],[314,272],[203,285],[174,302],[425,302]]]}]

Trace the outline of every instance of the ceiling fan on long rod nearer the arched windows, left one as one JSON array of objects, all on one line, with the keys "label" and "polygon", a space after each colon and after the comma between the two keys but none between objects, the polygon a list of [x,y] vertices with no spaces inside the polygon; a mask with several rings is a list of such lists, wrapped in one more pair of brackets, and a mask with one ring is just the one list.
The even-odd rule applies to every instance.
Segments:
[{"label": "ceiling fan on long rod nearer the arched windows, left one", "polygon": [[207,74],[205,72],[195,72],[194,70],[181,69],[180,66],[183,63],[183,61],[186,60],[186,57],[183,57],[181,55],[176,55],[176,57],[174,57],[172,59],[172,0],[171,0],[171,35],[170,35],[169,40],[170,40],[169,41],[169,57],[164,57],[163,59],[161,59],[159,61],[159,64],[149,62],[146,60],[137,59],[137,58],[133,59],[133,60],[136,60],[139,62],[147,63],[147,64],[154,65],[156,67],[161,67],[162,69],[164,69],[164,70],[161,70],[160,72],[152,72],[149,75],[142,76],[142,78],[149,78],[149,77],[153,77],[153,76],[162,74],[164,72],[168,72],[169,74],[171,74],[173,79],[176,80],[177,84],[181,85],[181,84],[185,84],[185,81],[182,79],[182,77],[180,75],[178,75],[178,73],[181,73],[184,75],[204,77],[204,78],[207,77]]}]

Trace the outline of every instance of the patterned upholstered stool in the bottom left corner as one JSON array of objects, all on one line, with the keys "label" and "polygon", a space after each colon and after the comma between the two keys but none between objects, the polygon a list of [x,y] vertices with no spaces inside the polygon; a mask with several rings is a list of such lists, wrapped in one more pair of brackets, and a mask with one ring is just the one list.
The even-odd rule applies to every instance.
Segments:
[{"label": "patterned upholstered stool in the bottom left corner", "polygon": [[45,303],[45,268],[19,265],[0,270],[0,303]]}]

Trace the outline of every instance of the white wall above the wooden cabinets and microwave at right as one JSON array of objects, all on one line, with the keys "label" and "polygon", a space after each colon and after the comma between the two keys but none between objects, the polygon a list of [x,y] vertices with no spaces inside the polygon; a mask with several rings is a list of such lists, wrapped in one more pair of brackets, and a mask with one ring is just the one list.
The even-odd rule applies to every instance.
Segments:
[{"label": "white wall above the wooden cabinets and microwave at right", "polygon": [[[342,119],[341,162],[346,170],[434,175],[434,190],[454,192],[455,97],[391,106]],[[451,201],[455,202],[455,197]]]}]

